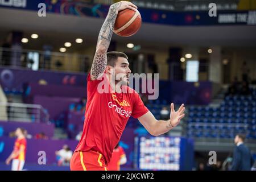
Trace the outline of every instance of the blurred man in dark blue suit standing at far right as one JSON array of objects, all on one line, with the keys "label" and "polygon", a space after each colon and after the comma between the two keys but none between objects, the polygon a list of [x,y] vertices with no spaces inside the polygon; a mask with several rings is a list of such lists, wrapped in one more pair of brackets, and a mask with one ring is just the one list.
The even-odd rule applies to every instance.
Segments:
[{"label": "blurred man in dark blue suit standing at far right", "polygon": [[236,148],[234,148],[233,152],[233,171],[250,171],[254,164],[254,159],[249,148],[243,144],[244,140],[245,135],[243,134],[237,134],[234,138]]}]

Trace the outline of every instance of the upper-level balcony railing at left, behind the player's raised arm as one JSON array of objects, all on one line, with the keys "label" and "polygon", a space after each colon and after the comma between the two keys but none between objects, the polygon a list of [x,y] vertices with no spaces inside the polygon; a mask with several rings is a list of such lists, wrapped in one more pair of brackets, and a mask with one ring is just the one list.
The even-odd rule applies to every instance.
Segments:
[{"label": "upper-level balcony railing at left, behind the player's raised arm", "polygon": [[90,56],[77,53],[38,51],[30,49],[0,47],[0,65],[26,68],[34,71],[51,70],[66,72],[87,72]]}]

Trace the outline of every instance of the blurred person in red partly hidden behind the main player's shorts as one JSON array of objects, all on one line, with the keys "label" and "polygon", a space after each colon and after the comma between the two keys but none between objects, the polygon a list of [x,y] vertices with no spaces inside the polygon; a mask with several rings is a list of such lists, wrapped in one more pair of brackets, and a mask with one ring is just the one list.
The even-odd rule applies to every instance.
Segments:
[{"label": "blurred person in red partly hidden behind the main player's shorts", "polygon": [[119,144],[115,146],[112,158],[108,164],[109,171],[120,171],[120,165],[125,164],[127,162],[125,151]]}]

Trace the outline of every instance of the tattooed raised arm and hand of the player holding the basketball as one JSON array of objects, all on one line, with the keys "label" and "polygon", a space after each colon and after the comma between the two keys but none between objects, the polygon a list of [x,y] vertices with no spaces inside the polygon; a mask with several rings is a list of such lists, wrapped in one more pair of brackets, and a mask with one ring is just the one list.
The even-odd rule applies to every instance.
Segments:
[{"label": "tattooed raised arm and hand of the player holding the basketball", "polygon": [[98,35],[98,42],[96,47],[96,53],[94,55],[92,68],[90,69],[90,79],[96,80],[104,73],[107,65],[106,52],[108,51],[110,40],[113,34],[113,28],[115,19],[119,11],[124,9],[131,9],[136,11],[137,6],[131,2],[121,1],[114,3],[109,8],[109,13],[106,16],[105,22],[101,27],[100,34]]}]

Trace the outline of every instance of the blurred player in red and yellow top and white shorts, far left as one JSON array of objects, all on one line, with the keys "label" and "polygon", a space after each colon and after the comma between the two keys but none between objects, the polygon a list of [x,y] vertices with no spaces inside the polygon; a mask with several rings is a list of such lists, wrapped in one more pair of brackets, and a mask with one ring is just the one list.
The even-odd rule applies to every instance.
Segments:
[{"label": "blurred player in red and yellow top and white shorts, far left", "polygon": [[11,160],[11,171],[22,171],[24,163],[25,163],[25,156],[27,150],[27,140],[24,137],[24,129],[18,127],[15,131],[15,135],[18,137],[14,143],[14,150],[11,152],[9,158],[6,159],[6,164],[9,165]]}]

